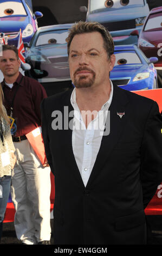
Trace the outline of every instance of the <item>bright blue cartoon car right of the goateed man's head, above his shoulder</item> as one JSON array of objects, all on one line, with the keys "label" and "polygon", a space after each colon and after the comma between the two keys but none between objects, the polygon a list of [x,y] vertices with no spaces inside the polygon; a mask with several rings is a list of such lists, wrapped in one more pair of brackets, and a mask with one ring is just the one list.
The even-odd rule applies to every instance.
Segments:
[{"label": "bright blue cartoon car right of the goateed man's head, above his shoulder", "polygon": [[111,80],[122,89],[147,90],[155,89],[157,71],[154,68],[157,57],[146,58],[144,53],[135,45],[115,46],[116,60],[111,71]]}]

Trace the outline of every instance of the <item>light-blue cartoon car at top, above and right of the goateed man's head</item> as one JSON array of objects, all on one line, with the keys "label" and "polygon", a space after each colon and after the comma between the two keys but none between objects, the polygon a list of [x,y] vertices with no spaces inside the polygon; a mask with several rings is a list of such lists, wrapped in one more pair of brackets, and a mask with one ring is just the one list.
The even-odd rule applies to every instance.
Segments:
[{"label": "light-blue cartoon car at top, above and right of the goateed man's head", "polygon": [[98,21],[105,26],[115,45],[137,44],[138,37],[131,35],[137,29],[140,33],[149,8],[146,0],[88,0],[87,21]]}]

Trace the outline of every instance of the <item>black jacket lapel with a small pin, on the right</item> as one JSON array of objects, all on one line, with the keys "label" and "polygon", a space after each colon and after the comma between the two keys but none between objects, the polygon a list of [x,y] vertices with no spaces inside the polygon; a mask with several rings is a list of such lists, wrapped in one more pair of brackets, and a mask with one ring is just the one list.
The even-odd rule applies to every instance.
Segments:
[{"label": "black jacket lapel with a small pin, on the right", "polygon": [[[129,109],[128,109],[128,98],[125,94],[124,90],[113,85],[113,99],[111,106],[109,107],[110,111],[110,132],[109,135],[102,137],[100,150],[98,156],[96,157],[96,161],[90,174],[88,183],[86,187],[89,187],[92,181],[99,175],[100,171],[102,170],[105,162],[108,159],[109,154],[112,152],[115,145],[118,143],[122,130],[124,129],[128,117],[129,117]],[[118,113],[125,113],[120,116]]]}]

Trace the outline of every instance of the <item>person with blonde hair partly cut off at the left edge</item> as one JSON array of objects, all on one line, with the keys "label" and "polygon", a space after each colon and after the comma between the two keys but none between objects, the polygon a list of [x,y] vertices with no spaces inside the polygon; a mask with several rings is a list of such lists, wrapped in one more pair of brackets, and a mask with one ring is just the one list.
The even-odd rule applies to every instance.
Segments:
[{"label": "person with blonde hair partly cut off at the left edge", "polygon": [[3,106],[3,99],[3,90],[0,84],[0,242],[5,209],[10,193],[11,170],[16,162],[15,147],[10,132],[10,120]]}]

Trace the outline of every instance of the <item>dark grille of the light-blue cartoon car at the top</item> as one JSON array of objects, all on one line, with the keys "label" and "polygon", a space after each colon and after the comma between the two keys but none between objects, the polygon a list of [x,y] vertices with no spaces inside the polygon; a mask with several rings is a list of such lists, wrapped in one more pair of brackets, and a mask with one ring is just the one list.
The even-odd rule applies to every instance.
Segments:
[{"label": "dark grille of the light-blue cartoon car at the top", "polygon": [[102,23],[102,25],[106,27],[108,31],[119,31],[119,30],[135,28],[135,20],[108,22],[108,23]]}]

